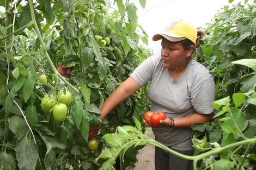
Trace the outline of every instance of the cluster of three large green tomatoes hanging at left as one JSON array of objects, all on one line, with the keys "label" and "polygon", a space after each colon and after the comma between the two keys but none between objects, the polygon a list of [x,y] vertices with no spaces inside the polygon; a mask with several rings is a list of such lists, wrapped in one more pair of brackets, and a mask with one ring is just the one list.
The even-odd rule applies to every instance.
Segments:
[{"label": "cluster of three large green tomatoes hanging at left", "polygon": [[41,109],[45,114],[53,115],[57,122],[63,122],[71,104],[72,95],[69,90],[60,90],[57,96],[45,95],[41,100]]}]

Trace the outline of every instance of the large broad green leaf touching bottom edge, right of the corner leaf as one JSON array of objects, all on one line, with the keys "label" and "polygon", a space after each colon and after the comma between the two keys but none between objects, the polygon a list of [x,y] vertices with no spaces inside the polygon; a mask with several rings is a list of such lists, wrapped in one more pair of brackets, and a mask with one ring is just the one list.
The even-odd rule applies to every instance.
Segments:
[{"label": "large broad green leaf touching bottom edge, right of the corner leaf", "polygon": [[27,136],[23,136],[17,141],[15,150],[19,168],[21,170],[34,170],[39,158],[36,144],[28,140]]}]

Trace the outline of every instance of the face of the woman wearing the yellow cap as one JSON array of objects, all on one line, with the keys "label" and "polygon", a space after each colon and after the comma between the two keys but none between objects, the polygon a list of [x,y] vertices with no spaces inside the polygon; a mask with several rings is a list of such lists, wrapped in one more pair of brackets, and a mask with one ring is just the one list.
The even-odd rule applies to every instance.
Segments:
[{"label": "face of the woman wearing the yellow cap", "polygon": [[188,58],[191,56],[194,49],[193,46],[185,50],[180,42],[171,42],[166,39],[162,39],[161,46],[164,68],[168,68],[169,70],[186,68]]}]

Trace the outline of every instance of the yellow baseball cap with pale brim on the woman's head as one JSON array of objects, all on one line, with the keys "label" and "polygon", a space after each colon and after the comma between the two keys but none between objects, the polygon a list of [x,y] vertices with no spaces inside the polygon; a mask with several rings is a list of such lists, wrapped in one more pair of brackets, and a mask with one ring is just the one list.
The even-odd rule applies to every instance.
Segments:
[{"label": "yellow baseball cap with pale brim on the woman's head", "polygon": [[172,42],[189,39],[196,44],[197,27],[186,21],[173,21],[164,32],[155,34],[153,41],[161,40],[163,37]]}]

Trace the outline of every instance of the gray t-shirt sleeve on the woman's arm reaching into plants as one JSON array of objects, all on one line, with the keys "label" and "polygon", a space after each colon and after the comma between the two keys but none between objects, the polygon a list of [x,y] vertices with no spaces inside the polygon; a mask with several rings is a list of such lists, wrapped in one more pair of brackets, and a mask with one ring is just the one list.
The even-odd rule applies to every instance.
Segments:
[{"label": "gray t-shirt sleeve on the woman's arm reaching into plants", "polygon": [[157,56],[153,55],[145,59],[130,75],[139,85],[144,86],[151,80],[154,72]]}]

